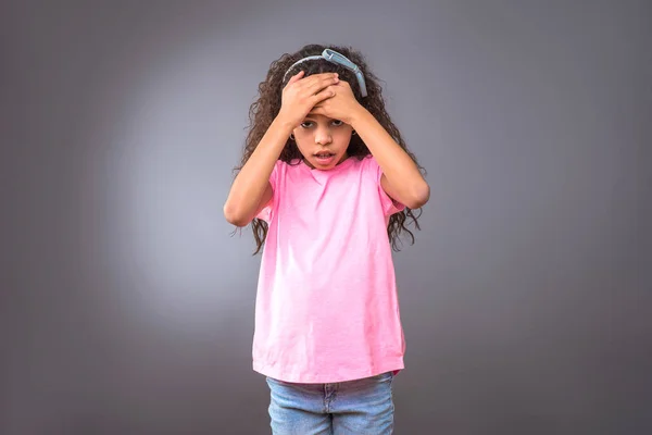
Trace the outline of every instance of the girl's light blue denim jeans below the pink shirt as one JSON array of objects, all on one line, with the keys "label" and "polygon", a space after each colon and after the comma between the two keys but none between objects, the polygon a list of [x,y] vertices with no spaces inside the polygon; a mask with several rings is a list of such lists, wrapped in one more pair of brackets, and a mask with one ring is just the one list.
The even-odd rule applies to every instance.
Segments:
[{"label": "girl's light blue denim jeans below the pink shirt", "polygon": [[391,372],[335,384],[267,377],[274,435],[388,435],[393,430]]}]

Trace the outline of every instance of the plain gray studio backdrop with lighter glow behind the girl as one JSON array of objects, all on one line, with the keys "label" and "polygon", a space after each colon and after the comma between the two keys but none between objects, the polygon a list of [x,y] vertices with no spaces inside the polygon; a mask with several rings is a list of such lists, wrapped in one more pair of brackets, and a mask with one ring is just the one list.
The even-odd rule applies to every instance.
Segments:
[{"label": "plain gray studio backdrop with lighter glow behind the girl", "polygon": [[652,431],[645,1],[2,2],[0,433],[264,434],[222,207],[272,60],[353,46],[428,170],[398,434]]}]

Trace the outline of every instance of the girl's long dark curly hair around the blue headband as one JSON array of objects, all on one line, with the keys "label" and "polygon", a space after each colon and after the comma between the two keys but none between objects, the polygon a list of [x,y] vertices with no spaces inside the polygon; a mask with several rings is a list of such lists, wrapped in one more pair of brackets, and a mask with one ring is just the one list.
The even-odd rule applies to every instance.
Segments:
[{"label": "girl's long dark curly hair around the blue headband", "polygon": [[[292,71],[288,71],[288,69],[298,60],[309,55],[321,54],[326,48],[330,48],[342,53],[353,63],[355,63],[360,70],[362,70],[367,90],[366,97],[362,97],[358,79],[352,72],[327,60],[311,60],[296,65]],[[279,59],[272,62],[265,80],[260,83],[259,98],[251,104],[249,109],[249,133],[244,141],[240,165],[236,166],[234,170],[236,174],[244,166],[255,150],[255,147],[258,147],[258,144],[265,135],[267,128],[269,128],[269,125],[278,115],[278,112],[280,111],[283,89],[287,82],[289,82],[290,77],[297,74],[299,71],[305,72],[304,77],[319,73],[338,73],[340,79],[350,84],[355,99],[369,113],[372,113],[372,115],[374,115],[374,117],[380,125],[383,125],[383,127],[385,127],[396,142],[412,158],[422,174],[426,173],[426,171],[418,164],[416,157],[408,149],[405,141],[401,137],[401,133],[387,113],[387,110],[385,109],[385,100],[381,94],[381,87],[379,85],[380,80],[371,72],[364,57],[350,47],[308,45],[294,53],[284,53]],[[354,135],[351,136],[351,141],[349,142],[347,153],[350,156],[350,158],[355,157],[358,159],[363,159],[371,154],[371,151],[360,138],[360,135]],[[288,141],[279,156],[279,160],[290,163],[298,159],[303,159],[303,156],[297,148],[297,144],[288,138]],[[412,210],[410,208],[405,208],[402,212],[394,213],[390,216],[387,226],[387,234],[394,251],[400,250],[399,246],[401,233],[408,234],[408,236],[411,238],[411,244],[414,244],[414,234],[408,228],[406,223],[409,223],[409,220],[411,220],[415,228],[421,229],[418,224],[419,216],[421,209]],[[265,243],[268,226],[265,221],[254,219],[251,222],[251,227],[253,229],[253,236],[256,243],[256,249],[253,254],[256,254],[260,252]]]}]

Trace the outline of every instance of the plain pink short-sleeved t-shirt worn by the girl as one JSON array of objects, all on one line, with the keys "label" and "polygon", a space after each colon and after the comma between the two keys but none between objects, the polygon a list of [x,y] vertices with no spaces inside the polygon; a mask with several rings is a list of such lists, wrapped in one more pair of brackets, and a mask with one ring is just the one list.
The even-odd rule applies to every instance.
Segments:
[{"label": "plain pink short-sleeved t-shirt worn by the girl", "polygon": [[404,206],[380,187],[368,156],[329,171],[283,161],[255,302],[253,370],[297,383],[334,383],[403,369],[394,268],[387,236]]}]

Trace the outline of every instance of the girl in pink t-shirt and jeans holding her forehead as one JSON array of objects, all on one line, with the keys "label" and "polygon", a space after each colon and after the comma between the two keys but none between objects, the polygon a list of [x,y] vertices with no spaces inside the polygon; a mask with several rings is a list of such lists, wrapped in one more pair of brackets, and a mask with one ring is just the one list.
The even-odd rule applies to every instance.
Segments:
[{"label": "girl in pink t-shirt and jeans holding her forehead", "polygon": [[226,220],[263,249],[253,369],[275,434],[389,434],[404,368],[392,246],[429,198],[361,54],[311,45],[272,63]]}]

